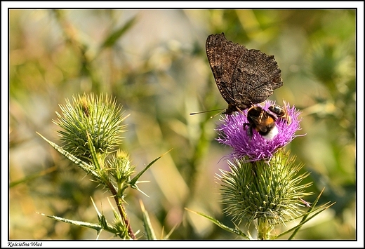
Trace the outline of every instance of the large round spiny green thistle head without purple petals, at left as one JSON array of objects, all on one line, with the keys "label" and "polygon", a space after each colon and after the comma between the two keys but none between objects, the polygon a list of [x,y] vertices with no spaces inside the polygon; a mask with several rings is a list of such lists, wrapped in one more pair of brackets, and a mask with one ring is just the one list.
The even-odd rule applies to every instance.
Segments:
[{"label": "large round spiny green thistle head without purple petals, at left", "polygon": [[121,107],[117,107],[112,98],[100,95],[78,95],[73,102],[66,100],[66,105],[60,105],[62,111],[58,120],[53,121],[60,126],[59,130],[63,148],[87,160],[91,159],[88,138],[91,139],[95,151],[99,154],[110,154],[121,142],[124,126],[121,122],[126,117],[121,116]]}]

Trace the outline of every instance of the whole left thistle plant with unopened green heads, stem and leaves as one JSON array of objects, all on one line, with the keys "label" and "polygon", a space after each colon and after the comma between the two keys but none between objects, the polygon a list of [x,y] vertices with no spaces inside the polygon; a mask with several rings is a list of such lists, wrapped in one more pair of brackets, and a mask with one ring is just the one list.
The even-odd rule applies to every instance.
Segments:
[{"label": "whole left thistle plant with unopened green heads, stem and leaves", "polygon": [[[131,160],[126,152],[117,150],[117,146],[121,142],[121,133],[125,128],[121,123],[126,116],[121,115],[121,107],[117,106],[115,100],[103,95],[95,97],[93,94],[84,94],[73,97],[72,103],[66,100],[66,105],[60,105],[60,109],[62,112],[57,113],[58,120],[53,122],[62,128],[58,131],[62,146],[47,140],[42,135],[41,137],[60,154],[92,175],[93,180],[100,186],[110,191],[117,206],[116,208],[112,206],[114,224],[107,222],[105,216],[96,208],[95,203],[93,204],[98,213],[98,224],[46,216],[69,224],[95,229],[98,234],[105,230],[123,239],[136,239],[124,208],[125,191],[128,187],[140,191],[138,179],[161,156],[145,166],[131,179],[135,167],[131,165]],[[112,155],[107,157],[110,154]],[[149,227],[150,230],[152,230],[151,227]]]}]

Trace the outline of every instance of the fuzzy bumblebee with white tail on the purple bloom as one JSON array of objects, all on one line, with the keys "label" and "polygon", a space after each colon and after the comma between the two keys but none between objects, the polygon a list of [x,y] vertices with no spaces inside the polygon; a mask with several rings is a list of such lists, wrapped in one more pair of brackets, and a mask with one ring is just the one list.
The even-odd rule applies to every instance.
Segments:
[{"label": "fuzzy bumblebee with white tail on the purple bloom", "polygon": [[253,129],[266,140],[272,140],[279,133],[275,125],[277,117],[260,106],[253,106],[248,109],[247,120],[248,123],[244,123],[244,126],[248,126],[247,134],[249,137],[252,137]]}]

